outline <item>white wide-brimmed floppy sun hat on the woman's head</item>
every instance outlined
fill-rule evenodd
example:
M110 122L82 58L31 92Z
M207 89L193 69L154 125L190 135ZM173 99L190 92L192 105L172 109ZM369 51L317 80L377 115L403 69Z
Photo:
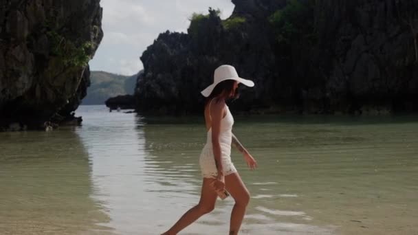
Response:
M240 78L233 66L221 65L214 70L213 83L201 91L201 94L205 97L210 96L210 93L212 93L214 87L216 87L219 82L224 80L236 80L237 82L242 83L247 87L254 87L254 82L252 80Z

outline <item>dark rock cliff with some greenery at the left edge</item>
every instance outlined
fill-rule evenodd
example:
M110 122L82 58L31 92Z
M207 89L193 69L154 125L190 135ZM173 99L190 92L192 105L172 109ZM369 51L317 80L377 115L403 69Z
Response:
M86 95L87 63L103 36L99 2L0 3L1 128L43 128L71 116Z

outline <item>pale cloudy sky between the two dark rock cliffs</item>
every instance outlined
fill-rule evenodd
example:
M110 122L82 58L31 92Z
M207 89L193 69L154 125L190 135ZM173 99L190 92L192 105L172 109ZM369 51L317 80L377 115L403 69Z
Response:
M101 0L104 37L90 69L133 75L143 68L140 56L158 34L186 32L193 12L219 8L221 18L232 14L230 0Z

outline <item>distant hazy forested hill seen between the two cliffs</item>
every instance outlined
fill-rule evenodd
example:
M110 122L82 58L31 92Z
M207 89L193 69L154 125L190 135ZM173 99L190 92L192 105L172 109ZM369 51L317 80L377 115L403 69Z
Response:
M82 104L104 104L108 98L133 94L136 78L137 74L122 76L105 71L91 71L91 85L87 89L87 96Z

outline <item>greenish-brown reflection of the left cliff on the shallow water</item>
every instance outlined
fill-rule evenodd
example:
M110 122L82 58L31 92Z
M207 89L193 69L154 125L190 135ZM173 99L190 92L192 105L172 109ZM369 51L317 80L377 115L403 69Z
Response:
M74 130L0 133L0 234L108 234Z

